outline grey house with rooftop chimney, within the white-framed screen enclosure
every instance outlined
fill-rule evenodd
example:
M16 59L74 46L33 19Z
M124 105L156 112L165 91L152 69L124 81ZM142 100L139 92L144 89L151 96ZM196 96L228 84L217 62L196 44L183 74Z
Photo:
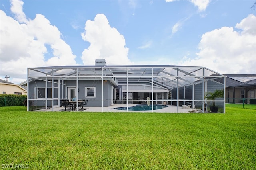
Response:
M61 100L77 98L88 99L87 106L102 107L103 111L113 104L145 103L147 97L152 104L191 103L204 108L204 89L224 89L224 79L224 75L205 67L108 66L104 59L96 59L94 66L28 68L28 81L22 85L27 86L33 106L53 111ZM222 107L224 104L224 99L220 100Z

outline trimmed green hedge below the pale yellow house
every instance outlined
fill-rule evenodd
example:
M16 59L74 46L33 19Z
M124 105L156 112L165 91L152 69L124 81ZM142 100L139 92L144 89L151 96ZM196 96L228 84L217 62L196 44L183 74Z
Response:
M27 95L0 94L0 106L22 106Z

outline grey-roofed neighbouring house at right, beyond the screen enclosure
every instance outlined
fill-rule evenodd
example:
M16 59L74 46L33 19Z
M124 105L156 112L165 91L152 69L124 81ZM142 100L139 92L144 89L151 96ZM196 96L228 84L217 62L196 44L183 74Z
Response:
M226 103L256 104L256 74L226 74Z

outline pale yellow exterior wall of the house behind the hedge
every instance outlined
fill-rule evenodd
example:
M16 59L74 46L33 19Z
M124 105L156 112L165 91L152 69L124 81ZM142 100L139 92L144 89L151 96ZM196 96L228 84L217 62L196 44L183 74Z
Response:
M20 88L17 84L0 84L0 92L1 94L15 94L21 93L22 95L26 95L26 90Z

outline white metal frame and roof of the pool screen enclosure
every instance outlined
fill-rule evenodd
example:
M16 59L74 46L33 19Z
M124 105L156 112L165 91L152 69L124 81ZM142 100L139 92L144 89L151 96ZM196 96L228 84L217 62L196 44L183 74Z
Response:
M163 89L169 90L172 92L173 89L177 89L177 98L176 99L168 99L167 102L176 102L177 104L177 113L179 113L179 102L188 101L184 99L180 99L179 96L179 88L193 85L193 99L189 100L192 104L194 102L202 102L202 108L205 107L206 102L212 102L209 100L205 100L204 96L207 90L205 90L205 83L207 81L215 81L217 79L222 79L223 90L225 91L225 76L219 74L213 70L210 70L205 67L198 66L173 66L173 65L135 65L135 66L51 66L51 67L37 67L37 68L28 68L27 69L27 89L28 89L28 98L27 98L27 111L29 111L29 103L30 100L45 100L46 108L47 101L51 101L51 111L54 109L54 101L58 101L58 106L60 106L60 93L63 94L64 90L64 81L65 80L76 80L76 94L78 94L78 83L79 80L101 80L102 82L102 112L104 112L104 101L111 99L104 99L104 80L110 81L114 86L118 85L126 85L128 94L128 85L131 83L150 83L152 85L151 92L151 100L152 104L156 102L153 99L153 87L158 86ZM56 88L56 84L58 84L58 98L54 98L54 90L52 90L51 98L45 99L30 99L29 96L32 95L29 88L29 82L33 80L42 80L45 81L46 87L47 82L51 83L49 88ZM54 82L55 81L55 82ZM58 82L56 82L58 81ZM204 82L204 83L202 83ZM195 100L194 99L194 85L202 83L202 99ZM54 85L55 84L55 85ZM62 92L60 92L60 86L62 86ZM46 90L47 91L47 90ZM225 92L224 92L225 95ZM47 92L46 92L47 96ZM62 96L63 97L63 96ZM223 100L218 100L218 102L223 102L223 113L225 113L225 96ZM88 101L94 99L88 99ZM128 99L126 99L128 101ZM78 100L77 100L78 102ZM128 107L128 102L126 102ZM77 103L78 106L78 103ZM193 106L193 105L192 105ZM128 111L128 110L127 110ZM153 107L151 112L153 112ZM204 113L204 109L202 109Z

